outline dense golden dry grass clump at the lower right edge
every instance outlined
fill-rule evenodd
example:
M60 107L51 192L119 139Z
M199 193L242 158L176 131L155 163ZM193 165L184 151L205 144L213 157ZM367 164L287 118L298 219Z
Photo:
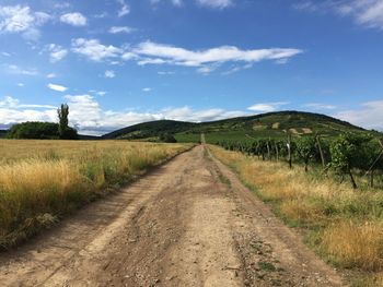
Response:
M344 267L383 268L383 226L379 223L334 224L324 230L321 247Z

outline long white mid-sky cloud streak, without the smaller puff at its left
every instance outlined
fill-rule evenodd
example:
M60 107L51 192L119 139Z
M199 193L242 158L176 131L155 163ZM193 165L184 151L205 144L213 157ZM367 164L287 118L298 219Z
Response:
M139 64L176 64L184 67L196 67L201 72L214 70L217 65L225 62L254 63L264 60L289 59L303 52L294 48L270 48L241 50L233 46L222 46L207 50L187 50L184 48L144 41L132 49L132 52L140 56ZM216 65L212 65L216 64Z

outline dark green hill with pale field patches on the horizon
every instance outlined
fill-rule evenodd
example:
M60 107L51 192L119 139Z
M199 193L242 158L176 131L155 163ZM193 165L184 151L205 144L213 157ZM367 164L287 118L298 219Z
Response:
M334 136L346 131L364 132L365 130L321 113L278 111L201 123L173 120L151 121L124 128L102 137L155 140L162 133L171 133L179 142L196 142L199 140L199 134L205 133L207 141L214 143L230 139L283 137L287 131L293 136L313 133Z

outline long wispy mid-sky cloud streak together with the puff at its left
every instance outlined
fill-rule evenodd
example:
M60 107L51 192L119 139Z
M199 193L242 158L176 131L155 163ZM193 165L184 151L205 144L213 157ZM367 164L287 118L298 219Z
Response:
M185 48L143 41L136 46L106 46L98 39L77 38L72 40L73 52L83 55L93 61L105 61L119 58L124 61L135 60L139 65L170 64L197 68L200 73L210 73L228 62L244 62L243 69L260 61L288 60L303 52L297 48L269 48L242 50L234 46L221 46L205 50L188 50ZM239 69L241 70L241 69Z

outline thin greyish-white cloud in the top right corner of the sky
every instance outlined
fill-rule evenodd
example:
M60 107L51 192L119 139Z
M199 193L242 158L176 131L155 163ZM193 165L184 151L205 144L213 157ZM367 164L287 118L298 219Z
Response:
M383 1L382 0L304 0L293 5L298 10L310 12L335 12L341 16L351 16L359 25L383 29Z

